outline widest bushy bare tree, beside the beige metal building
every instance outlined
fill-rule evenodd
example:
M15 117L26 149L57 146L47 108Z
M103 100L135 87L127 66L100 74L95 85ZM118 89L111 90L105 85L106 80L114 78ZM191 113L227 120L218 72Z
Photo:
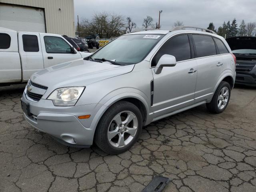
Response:
M120 36L125 32L124 17L107 12L94 14L92 20L82 19L80 30L87 35L98 34L100 38Z

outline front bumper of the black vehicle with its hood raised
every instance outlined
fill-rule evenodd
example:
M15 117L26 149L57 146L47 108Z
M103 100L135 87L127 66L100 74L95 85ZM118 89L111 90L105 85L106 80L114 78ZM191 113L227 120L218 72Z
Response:
M248 72L236 71L236 84L256 86L256 68Z

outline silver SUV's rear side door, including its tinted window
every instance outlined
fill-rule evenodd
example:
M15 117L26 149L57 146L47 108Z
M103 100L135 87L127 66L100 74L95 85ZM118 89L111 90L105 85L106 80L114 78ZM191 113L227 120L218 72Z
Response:
M193 34L192 37L198 66L195 102L200 102L212 98L223 71L223 60L222 56L217 55L212 36Z

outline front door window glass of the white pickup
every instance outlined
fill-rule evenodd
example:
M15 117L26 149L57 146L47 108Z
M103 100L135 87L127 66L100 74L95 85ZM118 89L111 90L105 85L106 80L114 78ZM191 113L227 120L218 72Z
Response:
M47 53L71 53L70 45L60 37L44 36Z

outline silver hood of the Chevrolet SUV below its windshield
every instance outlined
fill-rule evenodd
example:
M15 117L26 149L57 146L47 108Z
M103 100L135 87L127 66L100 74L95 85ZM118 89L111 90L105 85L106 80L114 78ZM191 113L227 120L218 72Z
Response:
M86 86L94 82L131 72L134 65L118 66L109 62L74 60L45 68L34 73L32 82L60 88L66 86Z

